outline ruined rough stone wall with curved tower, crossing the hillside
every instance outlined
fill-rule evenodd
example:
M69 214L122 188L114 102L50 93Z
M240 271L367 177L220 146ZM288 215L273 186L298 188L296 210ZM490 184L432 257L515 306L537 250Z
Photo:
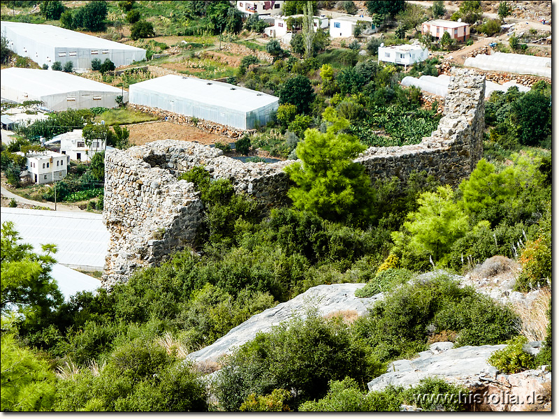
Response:
M406 182L414 170L426 170L445 184L457 185L483 154L484 89L483 75L456 70L444 117L430 137L418 145L371 147L356 161L373 181L397 176ZM159 263L196 241L203 203L193 184L177 180L180 173L204 166L215 179L231 179L236 191L254 196L267 210L289 203L291 183L284 168L291 163L242 163L219 149L175 140L108 153L103 219L110 242L103 286L126 282L134 270Z

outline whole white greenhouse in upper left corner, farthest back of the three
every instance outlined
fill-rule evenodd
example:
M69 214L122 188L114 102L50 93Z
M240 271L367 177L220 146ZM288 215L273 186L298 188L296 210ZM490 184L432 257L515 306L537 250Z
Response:
M145 59L145 50L50 24L1 22L1 34L8 47L22 57L29 57L39 66L71 61L74 68L88 70L92 59L110 59L115 66L126 66Z

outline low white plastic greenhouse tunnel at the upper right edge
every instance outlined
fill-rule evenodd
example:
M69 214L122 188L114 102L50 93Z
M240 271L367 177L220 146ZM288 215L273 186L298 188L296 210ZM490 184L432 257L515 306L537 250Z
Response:
M479 54L475 57L468 57L464 65L486 71L535 74L551 78L551 58L546 57L495 52L491 55Z

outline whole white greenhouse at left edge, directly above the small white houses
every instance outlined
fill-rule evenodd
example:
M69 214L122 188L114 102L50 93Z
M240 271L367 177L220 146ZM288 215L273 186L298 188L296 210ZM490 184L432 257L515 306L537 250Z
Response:
M0 72L1 97L17 103L41 101L51 111L115 108L122 90L79 75L36 68L5 68ZM128 92L124 91L124 101Z

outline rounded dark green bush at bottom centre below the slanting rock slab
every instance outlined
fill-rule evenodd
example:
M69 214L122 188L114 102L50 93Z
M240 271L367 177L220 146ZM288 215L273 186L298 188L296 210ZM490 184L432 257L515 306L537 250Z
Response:
M309 313L305 321L282 324L241 346L231 355L216 383L217 397L226 411L237 411L251 395L267 395L289 388L291 409L324 397L329 380L346 376L358 383L383 372L340 318L325 320Z

